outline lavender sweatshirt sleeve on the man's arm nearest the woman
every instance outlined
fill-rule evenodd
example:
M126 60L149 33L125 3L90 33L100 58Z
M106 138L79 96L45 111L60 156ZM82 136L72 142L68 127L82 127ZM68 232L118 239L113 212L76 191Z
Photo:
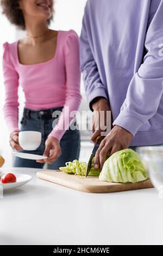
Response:
M96 97L104 97L106 99L108 99L108 97L91 51L89 36L87 33L87 28L89 28L89 26L89 14L87 14L86 5L83 17L82 33L80 35L80 68L83 73L86 97L90 104Z

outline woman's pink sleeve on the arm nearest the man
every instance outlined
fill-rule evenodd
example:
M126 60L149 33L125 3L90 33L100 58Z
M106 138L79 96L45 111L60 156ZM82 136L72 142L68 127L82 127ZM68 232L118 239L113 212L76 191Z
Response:
M60 140L70 126L74 117L72 111L77 111L82 99L80 95L80 60L79 60L79 38L76 32L69 31L64 46L65 71L66 71L66 96L65 104L59 117L58 123L49 136ZM67 111L68 110L68 111Z

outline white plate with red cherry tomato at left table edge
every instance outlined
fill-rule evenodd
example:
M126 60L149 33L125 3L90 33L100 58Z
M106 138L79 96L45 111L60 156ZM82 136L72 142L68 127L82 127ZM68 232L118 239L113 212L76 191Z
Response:
M3 175L7 173L8 172L0 172L1 178L3 177ZM9 190L9 189L21 187L27 182L29 182L30 180L32 180L32 176L27 174L15 174L14 172L10 172L10 173L13 173L16 176L16 182L13 182L13 183L0 182L0 186L3 187L3 190Z

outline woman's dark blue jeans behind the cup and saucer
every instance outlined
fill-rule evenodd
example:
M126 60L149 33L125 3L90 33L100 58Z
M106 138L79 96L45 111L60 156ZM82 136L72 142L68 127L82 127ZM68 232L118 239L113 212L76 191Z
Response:
M24 109L23 117L21 120L21 131L23 130L34 130L41 132L42 140L41 145L35 151L21 151L24 153L40 154L42 155L45 150L45 141L47 136L52 131L52 123L54 118L52 118L52 113L55 110L62 110L62 107L50 109L50 110L40 110L33 111L29 109ZM76 121L74 121L76 122ZM53 163L48 164L48 169L58 170L59 167L65 166L66 162L72 161L79 158L80 152L80 133L79 130L66 130L64 136L60 140L61 156ZM29 167L29 168L43 168L42 163L37 163L35 160L15 158L14 167Z

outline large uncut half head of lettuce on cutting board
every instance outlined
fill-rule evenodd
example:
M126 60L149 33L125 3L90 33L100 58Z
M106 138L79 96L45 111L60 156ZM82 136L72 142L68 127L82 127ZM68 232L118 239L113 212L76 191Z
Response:
M139 155L131 150L121 150L109 157L104 165L99 180L108 182L135 183L147 180L148 175Z

